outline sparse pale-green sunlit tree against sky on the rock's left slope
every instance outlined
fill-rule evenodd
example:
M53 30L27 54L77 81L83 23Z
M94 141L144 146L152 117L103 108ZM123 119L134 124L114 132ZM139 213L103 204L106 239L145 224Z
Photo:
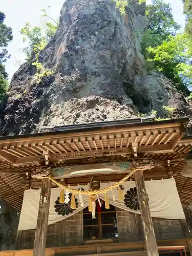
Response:
M50 6L47 9L42 9L42 17L47 17L48 20L51 19L52 22L46 22L46 29L35 26L32 27L29 22L26 22L25 26L20 30L20 34L24 35L23 42L28 42L28 46L22 50L23 53L27 55L27 59L30 59L44 49L48 44L49 40L54 36L58 23L48 14Z

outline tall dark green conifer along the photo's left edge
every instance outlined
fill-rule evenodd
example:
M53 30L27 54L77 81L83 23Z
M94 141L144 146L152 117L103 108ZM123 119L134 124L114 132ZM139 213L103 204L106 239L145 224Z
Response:
M5 18L5 13L0 12L0 102L5 97L8 89L8 74L4 62L10 57L7 46L13 39L12 29L4 24Z

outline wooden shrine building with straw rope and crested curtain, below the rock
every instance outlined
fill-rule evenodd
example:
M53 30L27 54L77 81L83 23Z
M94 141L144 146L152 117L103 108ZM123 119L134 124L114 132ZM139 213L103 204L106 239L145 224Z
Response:
M192 256L188 118L0 137L0 197L20 215L0 256Z

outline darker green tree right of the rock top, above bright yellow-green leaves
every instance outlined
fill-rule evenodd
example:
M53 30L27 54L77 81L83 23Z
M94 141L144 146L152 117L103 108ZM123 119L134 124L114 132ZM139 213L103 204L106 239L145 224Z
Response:
M162 41L169 40L170 35L176 35L180 26L174 21L170 4L163 0L153 0L151 5L146 6L148 25L142 39L142 52L147 54L148 47L156 47Z

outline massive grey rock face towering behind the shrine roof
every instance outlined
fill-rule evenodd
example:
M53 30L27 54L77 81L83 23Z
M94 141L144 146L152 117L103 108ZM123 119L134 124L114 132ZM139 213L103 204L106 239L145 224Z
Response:
M136 1L136 0L135 0ZM66 0L59 28L39 54L55 74L35 81L24 63L13 75L2 106L2 134L31 133L42 125L131 118L163 105L191 115L184 97L162 74L147 74L140 53L144 5L125 14L111 0Z

